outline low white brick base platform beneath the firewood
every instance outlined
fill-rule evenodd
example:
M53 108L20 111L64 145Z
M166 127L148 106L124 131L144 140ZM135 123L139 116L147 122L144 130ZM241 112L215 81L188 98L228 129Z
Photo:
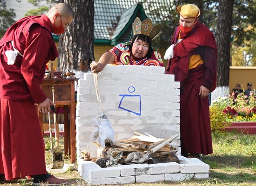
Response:
M90 185L130 184L139 182L183 181L209 178L209 165L196 158L178 156L176 162L132 164L101 168L92 161L78 159L79 171Z

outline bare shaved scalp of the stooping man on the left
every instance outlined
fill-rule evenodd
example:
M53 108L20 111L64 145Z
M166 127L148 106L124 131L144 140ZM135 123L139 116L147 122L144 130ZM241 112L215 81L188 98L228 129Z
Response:
M62 17L72 17L74 18L73 10L72 8L67 5L66 3L58 3L51 7L51 9L48 11L47 15L52 15L54 13L60 13Z

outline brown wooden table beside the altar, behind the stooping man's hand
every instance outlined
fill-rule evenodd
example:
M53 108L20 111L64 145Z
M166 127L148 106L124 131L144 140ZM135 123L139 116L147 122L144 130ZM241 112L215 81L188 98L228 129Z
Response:
M77 79L50 78L44 79L41 84L41 89L51 100L53 100L52 85L54 84L55 105L64 106L64 153L71 156L71 163L75 163L75 80ZM70 124L68 123L68 106L70 106ZM42 128L42 113L39 110L38 116Z

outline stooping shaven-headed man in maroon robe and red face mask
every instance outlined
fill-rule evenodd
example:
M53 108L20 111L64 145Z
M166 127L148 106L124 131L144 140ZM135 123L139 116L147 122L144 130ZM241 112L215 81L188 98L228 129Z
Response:
M61 34L73 20L65 3L46 15L29 16L11 26L0 40L0 174L13 180L34 177L34 185L65 184L47 174L44 141L34 107L46 113L53 102L40 83L49 60L58 57L52 32Z

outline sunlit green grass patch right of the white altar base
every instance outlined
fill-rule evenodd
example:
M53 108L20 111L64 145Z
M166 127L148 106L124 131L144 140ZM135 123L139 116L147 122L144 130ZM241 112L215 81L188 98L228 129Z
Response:
M214 133L212 138L214 154L202 158L210 166L204 184L256 186L256 135Z

